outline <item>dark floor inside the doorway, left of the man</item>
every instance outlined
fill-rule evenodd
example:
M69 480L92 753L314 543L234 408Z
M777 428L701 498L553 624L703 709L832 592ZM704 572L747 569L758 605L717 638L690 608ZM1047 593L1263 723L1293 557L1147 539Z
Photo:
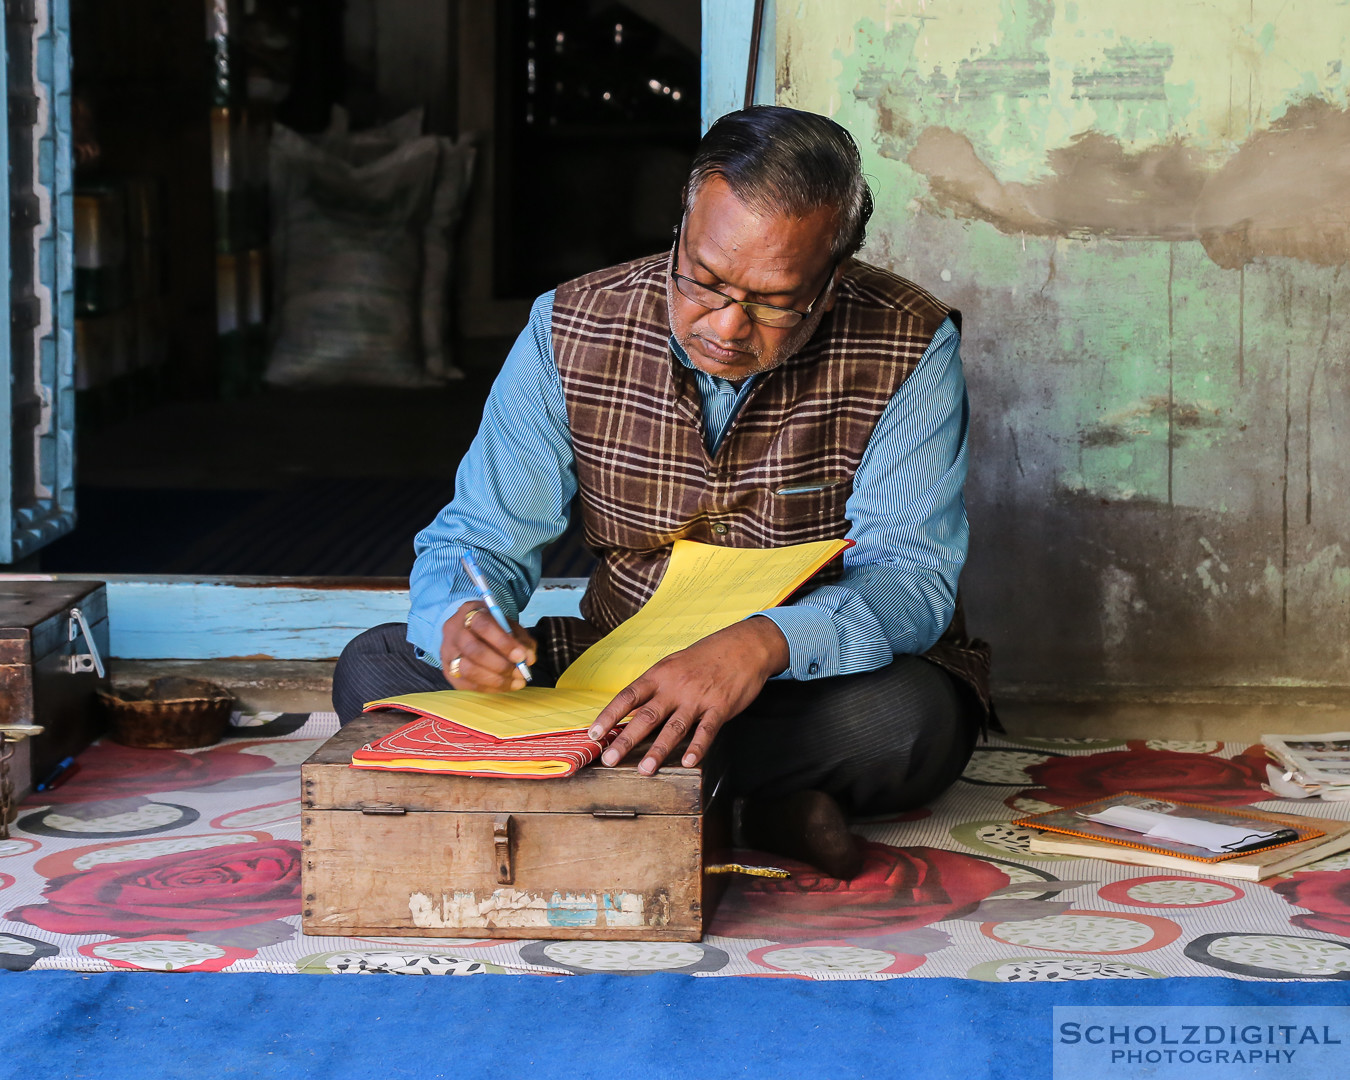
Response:
M31 568L406 575L508 347L462 344L468 375L436 387L266 387L92 416L77 431L78 522Z

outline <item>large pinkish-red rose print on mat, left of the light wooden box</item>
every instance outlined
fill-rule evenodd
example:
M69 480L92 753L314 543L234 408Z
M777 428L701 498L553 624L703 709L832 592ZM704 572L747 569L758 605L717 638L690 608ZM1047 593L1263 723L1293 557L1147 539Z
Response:
M7 918L54 934L144 937L250 926L300 913L300 845L231 844L53 878L46 903Z

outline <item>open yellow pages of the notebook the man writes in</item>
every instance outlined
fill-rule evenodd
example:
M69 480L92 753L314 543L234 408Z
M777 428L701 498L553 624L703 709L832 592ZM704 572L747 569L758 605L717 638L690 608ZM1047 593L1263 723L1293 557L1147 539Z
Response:
M366 709L439 717L500 740L585 732L614 694L657 660L782 603L850 544L822 540L786 548L722 548L676 540L652 598L586 649L562 674L556 688L526 686L509 694L433 690L381 698Z

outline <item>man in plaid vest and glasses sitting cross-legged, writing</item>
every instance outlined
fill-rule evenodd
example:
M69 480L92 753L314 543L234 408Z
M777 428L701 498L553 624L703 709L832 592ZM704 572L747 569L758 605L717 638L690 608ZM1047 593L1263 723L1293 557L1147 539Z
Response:
M842 572L666 657L599 714L648 736L653 774L725 742L737 841L838 878L848 815L925 803L987 716L988 649L956 585L968 528L960 316L856 261L871 215L832 120L760 107L703 138L670 251L540 297L506 359L454 501L417 537L408 625L343 652L343 722L381 697L549 684L637 612L676 539L776 547L848 537ZM582 618L508 634L460 570L470 551L514 617L578 500L599 559ZM479 617L482 613L482 617Z

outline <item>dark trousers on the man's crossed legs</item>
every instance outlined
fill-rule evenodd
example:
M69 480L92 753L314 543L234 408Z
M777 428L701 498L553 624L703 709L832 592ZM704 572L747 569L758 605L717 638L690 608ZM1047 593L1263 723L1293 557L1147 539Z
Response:
M367 701L447 688L446 676L417 659L405 633L401 622L386 622L343 649L333 672L342 724ZM536 686L555 678L536 666ZM861 675L770 682L718 740L729 755L734 794L780 798L817 790L865 815L937 798L961 775L977 732L973 699L946 671L918 656L896 656Z

